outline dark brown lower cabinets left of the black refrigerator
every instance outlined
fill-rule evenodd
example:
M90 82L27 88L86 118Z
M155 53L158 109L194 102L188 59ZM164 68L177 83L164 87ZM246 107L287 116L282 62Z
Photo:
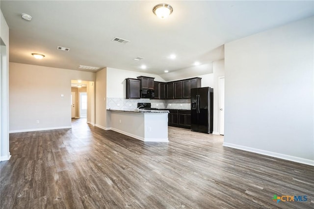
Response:
M168 126L191 128L191 110L168 109Z

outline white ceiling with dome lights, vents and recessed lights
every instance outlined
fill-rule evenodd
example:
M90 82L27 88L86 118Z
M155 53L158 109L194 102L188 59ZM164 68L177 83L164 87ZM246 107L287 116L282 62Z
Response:
M158 3L173 13L158 19ZM161 75L224 58L223 45L314 15L314 1L16 1L1 0L10 61L78 70L79 65ZM21 18L32 16L28 22ZM114 37L130 40L112 42ZM70 48L69 52L56 50ZM31 53L42 53L42 60ZM177 58L168 56L172 53ZM135 57L144 57L135 61ZM142 64L146 70L140 69Z

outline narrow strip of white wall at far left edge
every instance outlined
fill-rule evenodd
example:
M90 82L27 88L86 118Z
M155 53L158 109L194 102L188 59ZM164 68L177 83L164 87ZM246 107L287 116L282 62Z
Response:
M0 161L8 160L9 151L9 27L0 12Z

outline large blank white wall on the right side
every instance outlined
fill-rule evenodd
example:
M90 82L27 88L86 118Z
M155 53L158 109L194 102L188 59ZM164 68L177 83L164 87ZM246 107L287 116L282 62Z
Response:
M314 164L314 18L225 45L224 145Z

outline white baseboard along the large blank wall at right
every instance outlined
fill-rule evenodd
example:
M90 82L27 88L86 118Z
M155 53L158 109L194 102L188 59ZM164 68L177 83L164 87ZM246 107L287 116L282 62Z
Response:
M226 142L223 143L223 146L235 148L235 149L238 149L238 150L244 150L244 151L248 151L248 152L252 152L252 153L258 153L258 154L262 154L262 155L265 155L265 156L277 157L277 158L280 158L280 159L286 159L286 160L289 160L289 161L299 162L299 163L302 163L302 164L307 164L307 165L314 166L314 160L311 160L311 159L305 159L305 158L301 158L301 157L288 156L288 155L284 155L284 154L280 154L280 153L269 152L269 151L266 151L266 150L260 150L260 149L255 149L255 148L251 148L251 147L245 147L245 146L231 144L231 143L226 143Z

